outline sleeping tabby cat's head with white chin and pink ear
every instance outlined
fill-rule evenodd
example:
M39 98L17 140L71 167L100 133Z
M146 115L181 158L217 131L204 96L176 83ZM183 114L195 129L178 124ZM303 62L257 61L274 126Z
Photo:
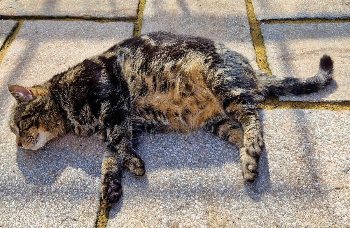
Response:
M19 147L37 150L69 129L63 111L44 86L9 85L8 91L17 101L13 106L10 129L16 135Z

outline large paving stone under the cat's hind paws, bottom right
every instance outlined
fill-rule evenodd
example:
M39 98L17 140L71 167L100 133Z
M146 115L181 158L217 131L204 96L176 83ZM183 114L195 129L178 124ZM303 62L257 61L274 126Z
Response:
M107 227L349 227L350 112L259 115L266 150L253 184L236 147L207 131L144 135L146 176L124 172Z

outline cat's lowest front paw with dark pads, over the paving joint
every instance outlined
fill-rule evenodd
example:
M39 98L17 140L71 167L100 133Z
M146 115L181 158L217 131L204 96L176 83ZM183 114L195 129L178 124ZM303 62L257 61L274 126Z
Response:
M121 183L116 179L102 181L102 199L106 204L117 202L121 196Z

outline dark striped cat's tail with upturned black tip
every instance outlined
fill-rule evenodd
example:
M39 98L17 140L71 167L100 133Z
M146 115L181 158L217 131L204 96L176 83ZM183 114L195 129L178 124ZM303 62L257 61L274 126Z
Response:
M333 71L333 60L328 55L323 55L318 72L311 78L285 78L259 72L258 93L281 96L317 92L330 84Z

